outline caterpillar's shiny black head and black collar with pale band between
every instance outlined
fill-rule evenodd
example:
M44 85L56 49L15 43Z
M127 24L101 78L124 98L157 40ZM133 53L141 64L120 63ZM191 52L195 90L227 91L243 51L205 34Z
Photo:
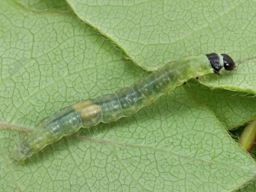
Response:
M234 70L236 68L234 60L227 54L210 53L206 54L211 63L211 67L215 74L219 75L219 71L224 67L225 70Z

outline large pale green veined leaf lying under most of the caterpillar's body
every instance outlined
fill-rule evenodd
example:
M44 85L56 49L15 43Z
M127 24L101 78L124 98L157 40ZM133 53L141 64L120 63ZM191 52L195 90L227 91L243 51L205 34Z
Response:
M146 74L70 14L3 1L0 29L2 191L230 191L255 177L251 156L182 87L133 117L84 129L18 165L10 152L21 127Z

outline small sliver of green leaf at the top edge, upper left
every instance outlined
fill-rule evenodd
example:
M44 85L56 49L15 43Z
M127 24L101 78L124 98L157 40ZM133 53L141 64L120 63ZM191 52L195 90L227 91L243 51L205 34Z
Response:
M34 11L60 11L60 12L72 12L65 0L15 0L27 9Z

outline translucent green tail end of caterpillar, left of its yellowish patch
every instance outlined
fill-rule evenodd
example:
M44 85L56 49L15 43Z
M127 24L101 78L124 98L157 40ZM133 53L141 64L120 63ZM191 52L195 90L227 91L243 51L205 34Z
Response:
M23 164L45 146L51 145L82 126L80 116L72 107L66 107L44 118L34 129L14 147L12 157Z

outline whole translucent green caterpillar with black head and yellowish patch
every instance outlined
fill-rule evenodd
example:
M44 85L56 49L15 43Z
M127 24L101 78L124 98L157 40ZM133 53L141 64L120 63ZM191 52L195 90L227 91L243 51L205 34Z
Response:
M190 56L167 63L114 94L75 103L46 117L14 147L13 157L23 163L45 146L81 127L89 128L100 122L110 123L131 116L142 107L150 105L161 94L182 85L190 78L219 74L223 67L225 70L234 70L235 63L227 54L218 53Z

